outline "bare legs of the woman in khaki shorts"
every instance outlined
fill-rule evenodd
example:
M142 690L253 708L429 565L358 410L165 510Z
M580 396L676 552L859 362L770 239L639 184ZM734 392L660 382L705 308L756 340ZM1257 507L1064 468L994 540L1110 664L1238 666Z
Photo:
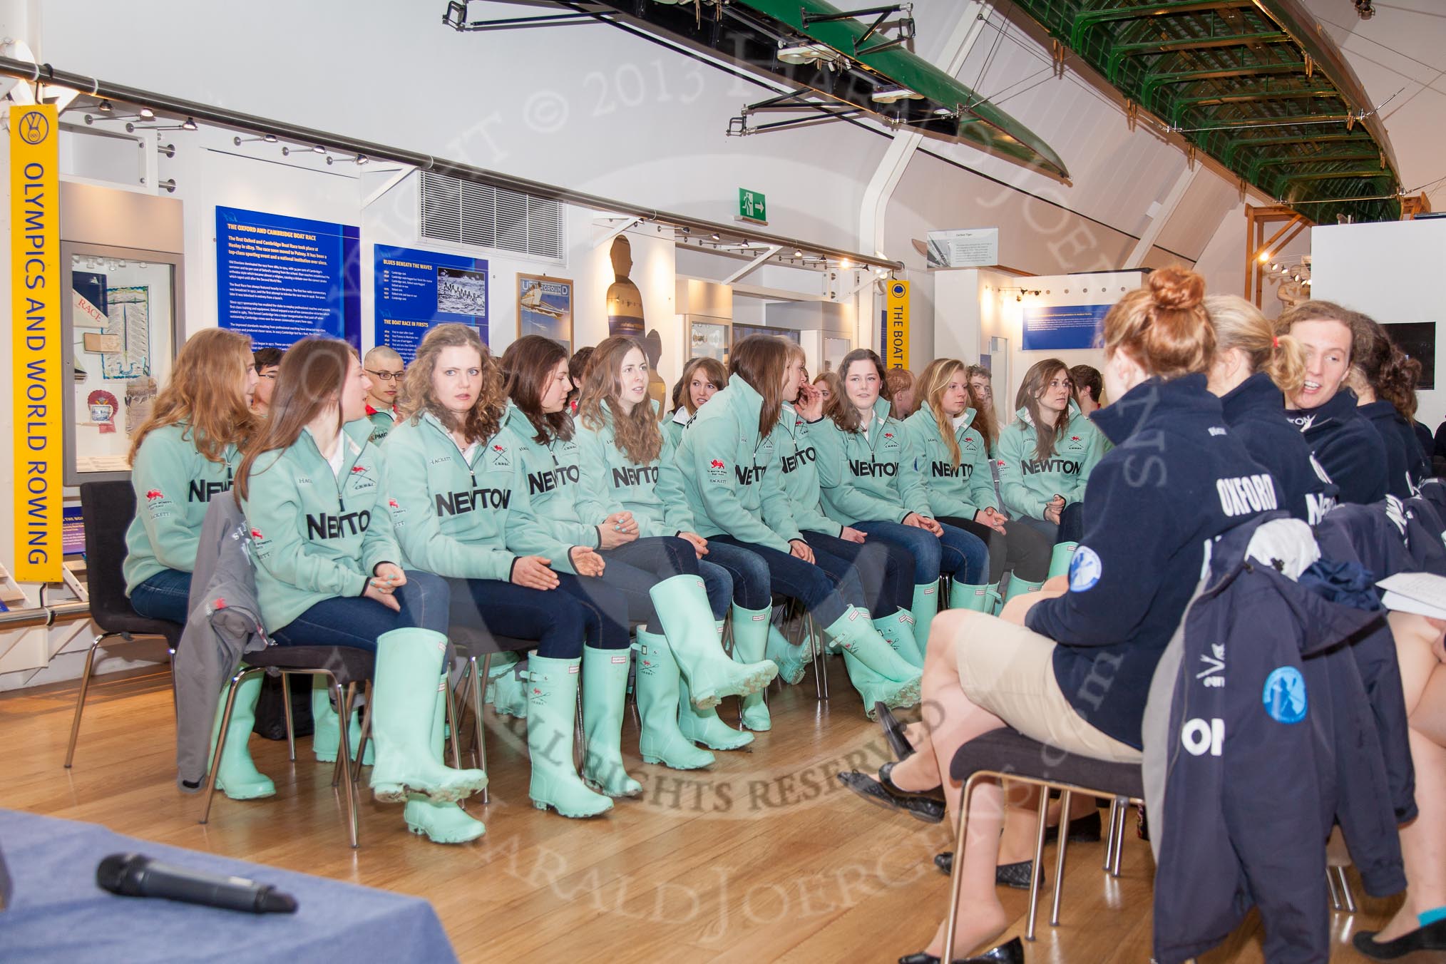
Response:
M985 629L979 620L988 619L991 617L982 613L960 610L949 610L934 619L923 684L928 740L915 744L918 752L894 767L895 782L901 788L938 786L940 773L949 773L949 765L959 747L1005 726L999 717L969 701L959 685L959 669L954 663L956 640ZM944 780L950 821L959 819L963 789L963 783ZM1004 905L995 895L995 863L999 857L999 830L1004 825L1002 796L996 785L983 783L975 788L970 799L969 838L964 841L963 863L956 863L956 873L963 874L962 912L956 929L956 942L960 948L972 948L998 937L1008 925ZM954 860L959 861L960 856L954 854ZM940 924L928 952L940 955L943 951L944 924Z

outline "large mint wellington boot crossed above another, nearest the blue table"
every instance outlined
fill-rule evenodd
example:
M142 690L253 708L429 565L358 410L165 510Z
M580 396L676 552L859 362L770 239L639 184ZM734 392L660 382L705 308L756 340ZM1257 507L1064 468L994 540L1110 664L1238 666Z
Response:
M487 785L482 770L454 770L432 757L432 718L447 698L445 656L447 637L429 629L393 629L376 639L372 791L385 804L409 793L455 804Z

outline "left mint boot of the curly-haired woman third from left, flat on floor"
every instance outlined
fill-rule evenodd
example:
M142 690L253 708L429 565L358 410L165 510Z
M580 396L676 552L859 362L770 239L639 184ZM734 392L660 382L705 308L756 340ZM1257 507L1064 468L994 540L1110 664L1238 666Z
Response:
M587 789L573 766L581 662L545 656L528 659L532 702L528 707L528 756L532 757L528 796L538 809L551 806L562 817L597 817L613 808L610 799Z

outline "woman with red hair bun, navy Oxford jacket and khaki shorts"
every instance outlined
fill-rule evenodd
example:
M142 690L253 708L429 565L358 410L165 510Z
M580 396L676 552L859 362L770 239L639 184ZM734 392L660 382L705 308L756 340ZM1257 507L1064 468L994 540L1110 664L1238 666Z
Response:
M933 713L911 730L914 752L879 770L886 789L941 789L950 821L957 821L963 786L946 779L954 753L1002 727L1067 753L1141 760L1150 681L1194 594L1206 543L1278 506L1271 475L1233 434L1219 431L1220 400L1206 389L1215 331L1203 295L1205 280L1194 272L1161 269L1111 308L1103 373L1112 403L1095 421L1115 448L1090 475L1089 525L1069 591L1022 595L999 617L940 613L924 666L923 702ZM1142 478L1145 460L1157 470ZM1216 497L1245 484L1257 503ZM1100 688L1090 676L1103 665L1113 675ZM980 783L970 796L969 838L954 854L967 912L954 925L957 950L946 948L940 925L925 950L936 960L966 957L1012 919L995 892L996 864L1008 856L1028 858L1035 818L1015 819L1024 811L1011 809L1001 827L1002 804L995 783ZM991 954L973 960L1018 961L1024 948L1015 938Z

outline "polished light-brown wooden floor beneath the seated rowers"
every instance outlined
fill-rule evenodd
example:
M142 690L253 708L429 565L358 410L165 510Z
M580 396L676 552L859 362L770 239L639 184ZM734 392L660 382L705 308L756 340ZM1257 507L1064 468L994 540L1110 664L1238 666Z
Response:
M23 691L0 697L0 806L418 895L437 908L464 961L892 961L923 948L944 913L947 880L931 857L946 848L947 831L840 788L837 770L873 769L886 757L842 668L830 679L827 704L810 684L775 691L774 731L752 752L720 753L711 770L643 766L629 753L645 796L591 821L532 808L522 741L489 714L492 802L471 806L487 834L460 847L431 844L406 832L401 806L367 799L354 851L331 767L312 762L309 740L292 765L285 743L253 737L278 795L218 795L201 827L200 801L174 783L165 676L91 688L72 770L61 763L74 688ZM638 746L630 718L623 746ZM1027 960L1150 960L1148 844L1128 832L1119 879L1100 870L1102 860L1100 844L1070 845L1061 924L1048 926L1045 906ZM1045 861L1053 873L1053 845ZM1022 934L1027 895L1001 893L1017 915L1009 934ZM1394 911L1358 900L1358 913L1333 918L1333 961L1362 960L1351 932L1375 929ZM1261 960L1252 924L1203 958Z

